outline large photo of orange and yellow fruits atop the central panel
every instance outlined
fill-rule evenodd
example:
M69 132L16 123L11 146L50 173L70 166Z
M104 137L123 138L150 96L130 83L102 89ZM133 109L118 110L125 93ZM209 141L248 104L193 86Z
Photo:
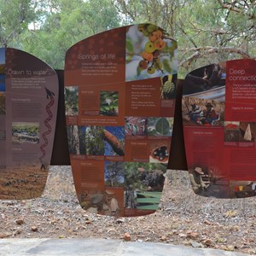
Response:
M177 73L177 42L160 26L138 24L126 32L125 80Z

